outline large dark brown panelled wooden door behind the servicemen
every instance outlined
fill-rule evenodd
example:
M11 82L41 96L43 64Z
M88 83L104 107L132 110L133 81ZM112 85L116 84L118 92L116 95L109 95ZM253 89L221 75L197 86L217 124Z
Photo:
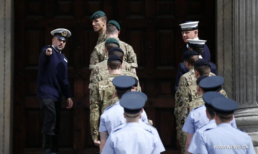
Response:
M38 56L51 45L50 31L72 33L64 50L74 106L61 112L62 153L95 153L89 126L89 59L98 34L90 16L103 10L108 20L120 23L119 38L137 54L137 75L148 95L145 110L159 131L165 153L179 153L174 119L174 82L185 44L180 23L200 21L199 37L206 39L215 56L214 1L15 1L15 119L14 153L40 153L42 120L36 96ZM211 30L212 29L212 30Z

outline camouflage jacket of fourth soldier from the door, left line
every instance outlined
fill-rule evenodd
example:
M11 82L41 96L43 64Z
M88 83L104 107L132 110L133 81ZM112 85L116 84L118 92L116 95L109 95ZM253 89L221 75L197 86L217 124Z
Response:
M134 78L136 78L138 80L138 83L139 83L139 79L138 79L137 75L132 73L132 72L130 72L130 71L121 69L121 75L127 75L127 76L134 77ZM101 72L101 73L97 74L97 76L96 76L96 78L94 80L94 83L99 82L99 81L107 78L108 76L109 76L108 70L104 71L104 72ZM140 84L138 84L137 91L140 91L140 92L142 91L142 89L140 87Z

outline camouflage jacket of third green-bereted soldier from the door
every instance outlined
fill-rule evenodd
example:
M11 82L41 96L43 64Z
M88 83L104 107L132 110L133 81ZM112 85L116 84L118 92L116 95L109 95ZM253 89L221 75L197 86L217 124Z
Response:
M129 63L127 63L126 61L124 61L122 63L122 69L134 73L133 67ZM100 62L100 63L97 63L97 65L95 65L93 67L93 69L91 69L89 89L91 89L97 74L99 74L101 72L104 72L106 70L107 70L107 59Z

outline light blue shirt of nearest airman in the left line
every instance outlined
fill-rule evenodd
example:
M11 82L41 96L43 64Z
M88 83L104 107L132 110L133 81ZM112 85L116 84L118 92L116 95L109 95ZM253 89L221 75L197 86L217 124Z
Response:
M127 123L108 136L102 154L157 154L157 145L157 138L149 130L139 123Z

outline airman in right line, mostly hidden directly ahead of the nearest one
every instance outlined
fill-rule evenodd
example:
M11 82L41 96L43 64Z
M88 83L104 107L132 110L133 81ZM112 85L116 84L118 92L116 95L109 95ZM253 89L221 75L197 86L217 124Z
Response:
M191 143L188 147L188 152L194 153L194 154L196 153L196 148L197 148L196 144L200 142L200 135L203 133L203 131L205 131L206 129L212 129L217 127L217 124L215 123L215 119L214 119L214 116L215 116L214 109L211 106L211 100L218 97L225 97L225 96L215 91L209 91L202 96L203 101L205 102L204 105L206 107L206 115L210 121L207 124L203 125L202 127L198 128L196 132L193 134Z

